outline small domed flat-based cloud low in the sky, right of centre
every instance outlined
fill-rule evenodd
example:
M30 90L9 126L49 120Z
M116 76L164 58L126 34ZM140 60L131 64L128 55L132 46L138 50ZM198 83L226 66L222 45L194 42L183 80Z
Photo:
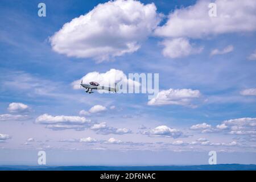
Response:
M158 126L150 131L143 131L142 134L146 134L150 137L172 137L178 138L183 134L180 130L170 128L168 126Z

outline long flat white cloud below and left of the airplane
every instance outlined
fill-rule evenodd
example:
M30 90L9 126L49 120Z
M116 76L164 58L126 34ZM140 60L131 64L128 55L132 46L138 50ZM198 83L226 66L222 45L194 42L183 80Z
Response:
M48 129L52 130L84 130L86 126L90 125L90 119L78 116L43 114L36 118L35 123L46 125Z

